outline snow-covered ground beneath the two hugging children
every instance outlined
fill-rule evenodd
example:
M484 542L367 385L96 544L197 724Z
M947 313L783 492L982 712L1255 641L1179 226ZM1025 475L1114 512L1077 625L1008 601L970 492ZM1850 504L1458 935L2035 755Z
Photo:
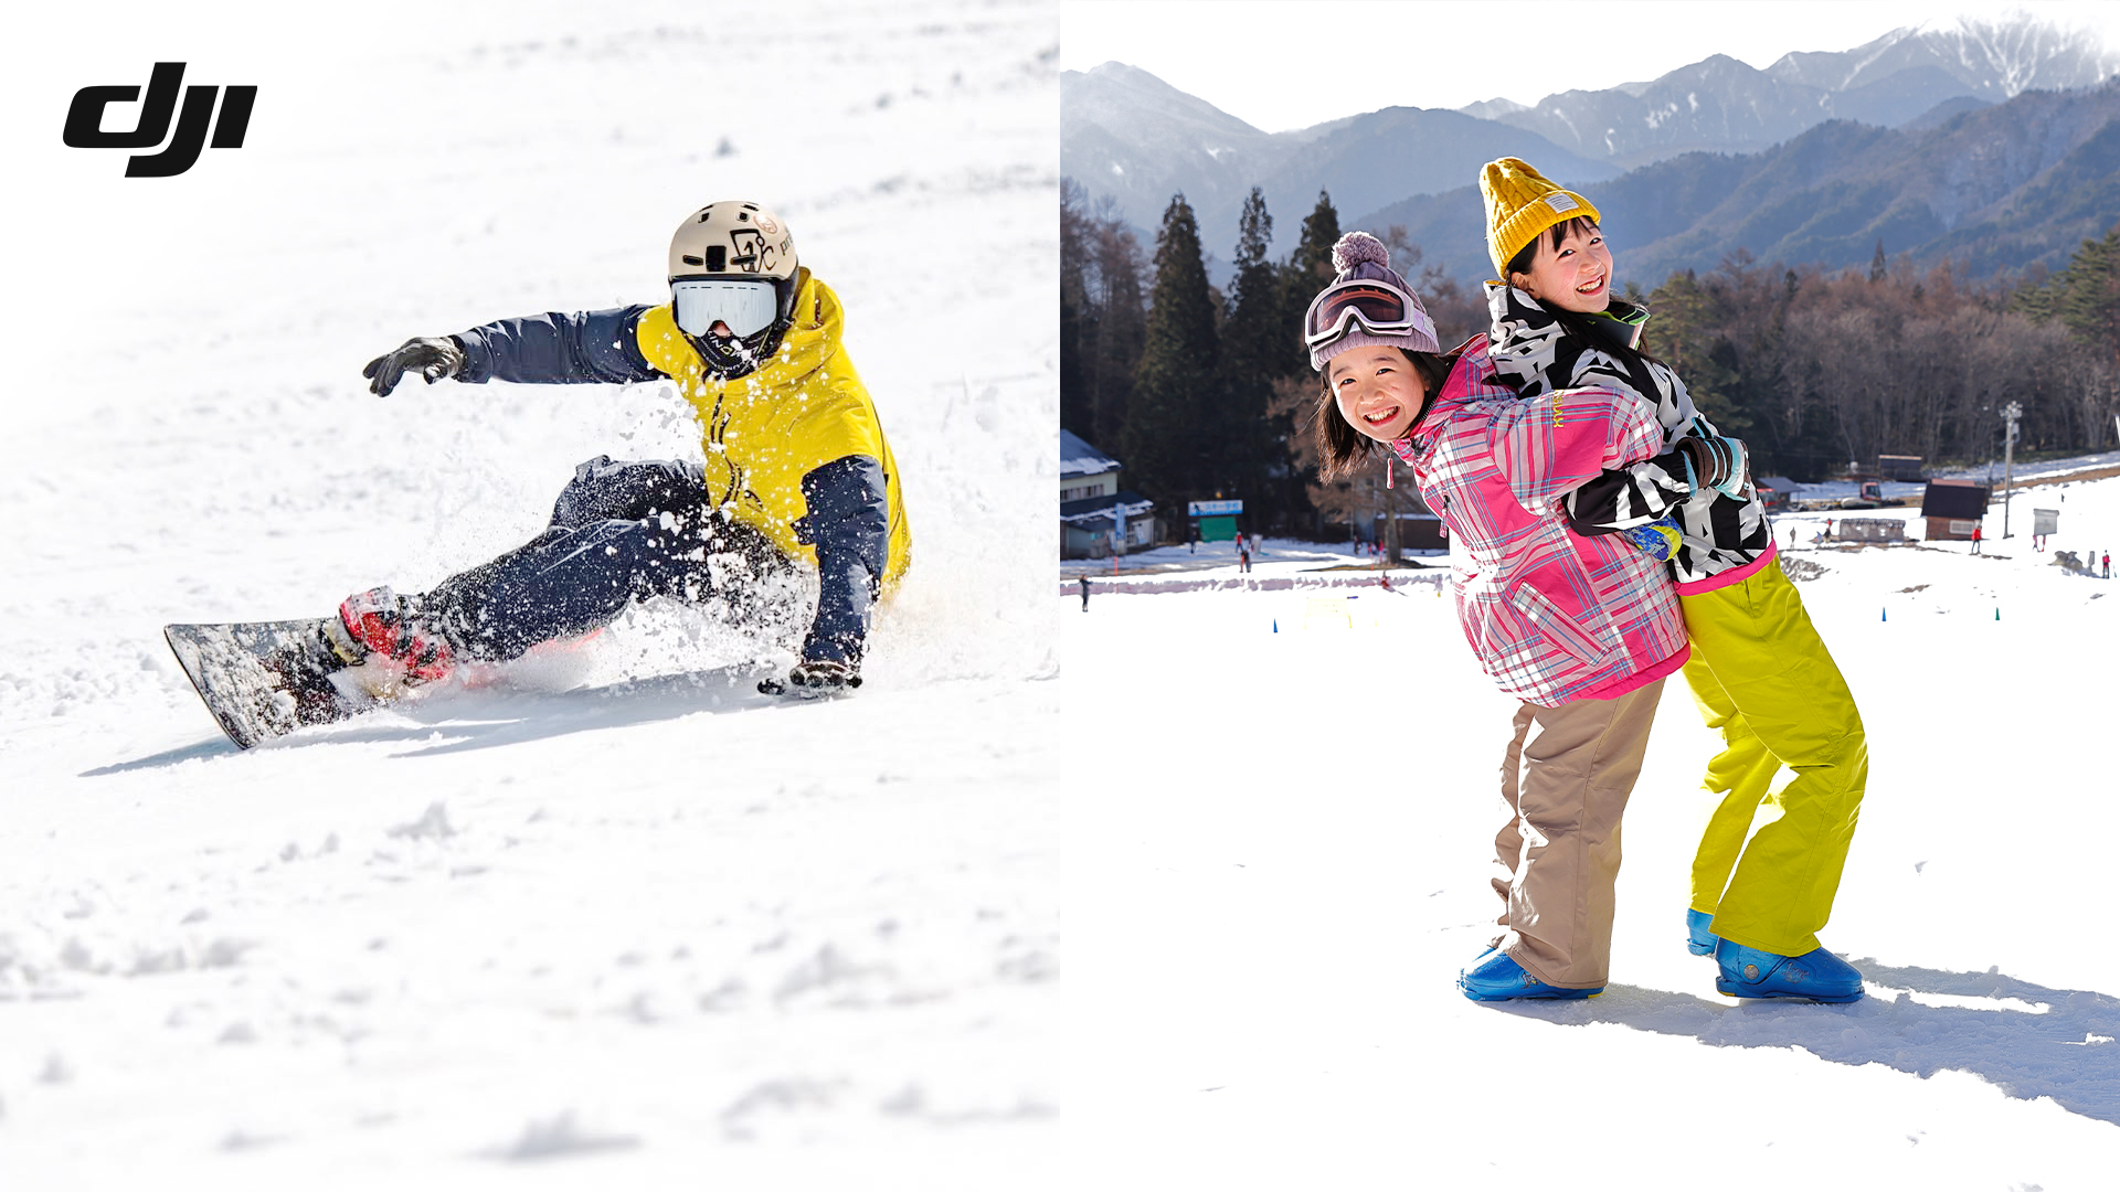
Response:
M2120 479L2063 509L2056 549L2120 543ZM1068 1128L1138 1188L2112 1188L2120 581L1965 549L1794 554L1872 751L1821 933L1870 997L1832 1007L1724 999L1683 946L1719 738L1681 681L1611 986L1478 1005L1452 982L1497 912L1514 704L1435 571L1062 594Z

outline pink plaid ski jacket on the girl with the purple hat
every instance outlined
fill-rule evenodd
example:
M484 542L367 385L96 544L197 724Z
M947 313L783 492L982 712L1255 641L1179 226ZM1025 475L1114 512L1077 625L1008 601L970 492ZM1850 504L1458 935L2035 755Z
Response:
M1664 428L1635 397L1516 397L1497 382L1484 335L1461 348L1435 403L1393 443L1450 526L1459 624L1503 694L1545 706L1611 700L1685 664L1664 564L1622 534L1575 534L1560 505L1662 445Z

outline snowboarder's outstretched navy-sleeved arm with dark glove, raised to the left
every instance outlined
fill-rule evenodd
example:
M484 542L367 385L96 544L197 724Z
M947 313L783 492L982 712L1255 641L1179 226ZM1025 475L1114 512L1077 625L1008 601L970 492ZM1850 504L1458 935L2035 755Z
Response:
M625 384L664 373L640 354L634 325L647 305L547 312L502 318L443 339L407 339L363 369L369 390L386 397L407 371L428 384L456 378L464 384L490 380L528 384Z

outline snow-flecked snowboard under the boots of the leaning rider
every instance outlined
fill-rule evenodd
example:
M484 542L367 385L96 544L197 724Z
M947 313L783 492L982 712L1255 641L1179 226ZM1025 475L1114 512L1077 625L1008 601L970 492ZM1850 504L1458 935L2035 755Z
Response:
M163 626L161 636L237 749L375 706L324 641L324 621Z

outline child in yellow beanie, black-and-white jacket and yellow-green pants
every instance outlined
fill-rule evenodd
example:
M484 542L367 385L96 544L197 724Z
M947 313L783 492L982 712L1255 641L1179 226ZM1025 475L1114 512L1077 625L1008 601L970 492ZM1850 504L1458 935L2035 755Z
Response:
M1724 751L1707 787L1724 795L1694 857L1688 946L1715 954L1734 997L1855 1001L1861 974L1819 946L1868 781L1861 715L1804 602L1774 562L1745 445L1694 409L1685 384L1641 350L1649 312L1611 297L1596 206L1516 157L1480 172L1488 352L1526 397L1582 386L1645 403L1664 428L1656 458L1605 471L1567 498L1582 534L1622 534L1666 560L1692 638L1685 681ZM1796 778L1779 793L1781 766ZM1747 831L1762 802L1781 814Z

